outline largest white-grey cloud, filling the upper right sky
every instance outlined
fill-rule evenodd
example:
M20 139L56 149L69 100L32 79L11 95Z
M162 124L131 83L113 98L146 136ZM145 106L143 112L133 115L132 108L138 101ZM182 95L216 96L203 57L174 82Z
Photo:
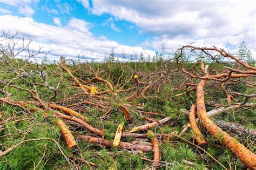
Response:
M140 33L153 38L143 45L173 52L178 45L238 47L242 40L255 54L255 1L125 1L92 0L85 5L91 13L110 13L117 19L132 22Z

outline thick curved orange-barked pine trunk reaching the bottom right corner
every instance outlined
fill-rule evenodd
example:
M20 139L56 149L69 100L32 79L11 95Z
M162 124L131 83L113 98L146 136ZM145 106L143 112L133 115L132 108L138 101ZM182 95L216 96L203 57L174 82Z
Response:
M222 144L231 149L244 164L251 169L256 169L256 155L248 150L244 145L240 144L237 140L232 138L229 134L221 130L213 121L208 117L205 101L204 101L204 86L206 79L200 81L197 86L197 113L199 119L203 122L206 130L218 139Z

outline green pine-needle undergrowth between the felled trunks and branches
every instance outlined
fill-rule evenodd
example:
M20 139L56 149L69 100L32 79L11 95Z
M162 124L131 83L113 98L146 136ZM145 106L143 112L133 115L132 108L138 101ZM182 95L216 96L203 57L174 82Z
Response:
M12 61L14 62L14 61ZM19 61L21 62L21 61ZM15 63L15 62L14 62ZM22 62L20 63L22 64ZM134 68L135 63L126 63L127 66ZM32 64L33 65L33 64ZM154 72L154 63L147 63L146 72ZM160 64L157 63L157 66ZM91 63L91 67L94 67L95 70L102 69L104 72L100 76L111 81L114 85L118 82L119 76L124 70L123 77L121 80L125 82L130 76L134 73L127 67L120 67L119 64L97 64ZM192 63L187 63L184 67L192 67ZM210 64L210 67L214 69L219 69L223 65L218 65L216 63ZM72 70L77 69L77 65L69 66ZM178 68L175 63L172 63L167 66L167 69ZM3 71L6 68L0 65L0 70ZM110 68L110 70L109 70ZM77 86L73 86L73 81L71 80L68 73L61 73L62 70L57 65L45 65L45 71L50 75L48 77L49 86L56 87L58 82L59 89L57 96L52 99L53 102L64 101L66 98L71 97L73 94L83 92ZM87 72L86 72L87 71ZM158 71L158 70L156 70ZM211 70L212 71L212 70ZM55 74L53 74L53 72ZM85 74L86 72L86 74ZM114 75L109 78L109 73ZM93 73L88 71L86 65L80 65L80 70L76 73L78 78L81 78L85 81L94 77ZM0 79L9 80L11 74L0 72ZM43 83L40 77L34 77L35 81ZM144 79L143 81L147 82L149 80ZM157 126L151 130L156 133L172 133L172 132L181 132L183 126L188 123L188 117L183 112L180 112L180 109L189 110L191 104L196 103L196 92L192 91L188 97L186 94L179 97L174 97L176 94L180 94L183 91L174 90L180 84L192 82L198 83L198 80L184 79L183 76L177 76L173 78L171 83L163 84L161 90L156 92L152 89L147 95L150 94L156 95L159 99L154 98L153 96L149 100L143 98L134 99L131 101L133 104L142 104L144 103L144 110L150 112L157 112L163 115L161 116L150 116L155 119L163 119L164 117L171 117L171 121L165 125ZM32 89L31 86L25 84L22 79L14 80L15 85L23 88ZM100 90L106 88L105 84L99 84L97 81L93 81ZM130 87L133 84L133 81L128 83L126 86ZM209 83L210 84L210 83ZM209 85L207 84L207 85ZM4 85L0 84L0 88L3 88ZM255 92L255 88L248 88L244 84L235 83L230 86L232 91L242 92L251 94ZM11 97L15 100L32 100L30 98L30 93L22 90L18 90L12 87L6 87ZM37 91L42 100L48 101L50 96L54 95L54 92L48 87L38 87ZM0 92L0 97L6 97L6 94ZM93 127L104 130L104 138L107 140L113 140L116 133L117 127L120 123L125 122L123 131L129 132L133 127L144 125L148 123L146 117L149 115L138 114L131 112L132 120L130 123L125 120L123 112L115 109L118 107L118 103L125 102L125 94L121 94L118 97L113 97L113 100L110 101L111 108L113 111L109 114L106 119L100 118L105 112L99 108L90 106L85 111L80 111L85 117L89 119L89 124ZM242 97L236 97L239 101L242 101ZM208 87L205 90L205 101L207 111L215 108L214 104L221 104L221 106L228 106L225 100L225 93L220 90L219 85L213 85ZM234 101L232 101L234 102ZM250 99L249 102L255 102L253 99ZM229 112L221 113L215 115L214 119L221 119L233 123L237 123L245 126L246 128L255 129L256 127L256 111L255 109L248 110L231 110ZM76 166L82 169L90 169L90 166L81 163L74 162L72 159L66 160L71 156L81 158L84 160L93 162L97 165L97 169L148 169L151 165L153 159L153 153L140 153L140 154L131 154L129 152L119 152L122 151L122 148L106 148L99 145L93 145L85 141L78 141L78 146L71 149L66 149L60 130L55 124L51 121L50 118L43 117L41 112L29 113L22 108L17 106L11 106L8 104L0 105L0 150L3 152L6 149L15 146L20 142L24 135L25 139L38 139L38 138L50 138L57 142L57 144L48 139L42 139L38 141L27 141L23 144L16 147L12 152L0 158L0 169L75 169ZM203 125L199 123L199 127L202 130L207 144L201 146L205 151L211 154L214 158L218 159L221 164L225 167L232 169L244 169L244 164L241 163L239 159L234 157L234 155L226 149L223 145L220 144L220 141L213 138L210 134L206 132ZM74 128L70 126L70 130L73 135L84 134L84 135L93 135L89 131L83 128ZM138 133L146 133L138 132ZM183 138L188 141L194 142L192 137L192 132L188 131ZM232 134L233 137L238 139L244 145L249 146L252 151L256 151L255 145L253 145L253 139L240 137L236 134ZM136 139L126 138L122 141L132 142ZM147 142L150 142L149 139L146 139ZM176 137L170 139L169 142L161 141L160 145L161 150L161 167L159 169L221 169L222 167L215 162L208 154L206 154L201 149L197 148L186 142L185 140L178 139ZM110 154L110 152L112 154ZM65 157L64 157L64 155ZM190 163L188 163L190 162Z

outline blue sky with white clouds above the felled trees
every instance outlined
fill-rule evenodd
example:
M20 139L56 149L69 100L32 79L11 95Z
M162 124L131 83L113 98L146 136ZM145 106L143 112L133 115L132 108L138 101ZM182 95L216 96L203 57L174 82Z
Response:
M30 36L30 48L43 47L50 60L79 55L100 62L112 48L119 59L173 55L190 43L235 53L242 40L255 59L255 6L250 0L0 0L0 31L18 30L19 42Z

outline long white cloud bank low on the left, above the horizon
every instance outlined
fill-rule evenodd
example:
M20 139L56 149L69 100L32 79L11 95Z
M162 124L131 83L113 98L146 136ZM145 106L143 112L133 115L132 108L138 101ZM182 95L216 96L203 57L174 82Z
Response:
M0 30L10 30L13 33L18 30L17 39L30 35L33 39L30 45L31 50L37 50L39 46L43 46L44 51L50 51L48 57L52 60L58 60L62 55L68 58L80 55L89 60L101 61L109 55L112 47L117 56L121 56L123 52L126 56L140 52L145 55L154 54L154 51L144 50L139 46L118 44L104 36L96 38L89 31L91 24L82 19L72 18L66 26L37 23L30 17L11 15L0 16L0 21Z

